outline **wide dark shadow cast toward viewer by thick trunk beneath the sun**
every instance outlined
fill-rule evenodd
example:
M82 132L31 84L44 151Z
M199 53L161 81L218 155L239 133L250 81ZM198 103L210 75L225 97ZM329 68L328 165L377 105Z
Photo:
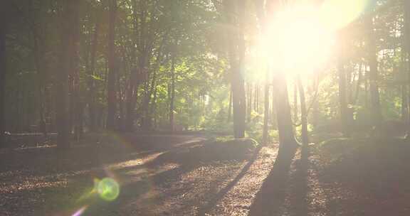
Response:
M290 164L297 149L284 150L279 152L272 171L266 177L261 189L256 193L256 198L253 200L248 215L273 216L280 215L281 210L283 210L286 188L288 188Z

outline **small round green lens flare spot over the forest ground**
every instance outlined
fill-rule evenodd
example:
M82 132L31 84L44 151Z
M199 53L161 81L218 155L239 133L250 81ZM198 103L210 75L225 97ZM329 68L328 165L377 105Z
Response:
M102 200L113 201L120 195L120 185L112 178L98 180L95 187L95 190Z

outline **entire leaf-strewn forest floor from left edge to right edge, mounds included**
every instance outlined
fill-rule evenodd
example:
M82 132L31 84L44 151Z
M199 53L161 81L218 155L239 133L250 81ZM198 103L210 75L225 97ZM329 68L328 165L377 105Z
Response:
M258 193L275 171L276 145L228 152L199 135L95 139L64 156L55 146L1 150L0 215L248 215L253 205L270 215L410 215L410 148L402 141L352 141L343 153L340 144L311 146L308 157L296 153L275 190ZM115 200L93 190L102 178L120 185Z

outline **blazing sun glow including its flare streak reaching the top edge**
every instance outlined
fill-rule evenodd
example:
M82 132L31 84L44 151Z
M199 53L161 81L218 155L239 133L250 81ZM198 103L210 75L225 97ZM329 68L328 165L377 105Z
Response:
M325 1L283 9L268 24L258 52L273 72L310 74L324 68L333 54L337 30L354 21L365 6L360 1Z

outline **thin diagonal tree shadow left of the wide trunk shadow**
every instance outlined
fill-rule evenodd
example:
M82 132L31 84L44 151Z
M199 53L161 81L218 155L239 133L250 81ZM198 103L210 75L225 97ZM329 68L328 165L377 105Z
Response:
M236 183L238 183L238 181L241 180L241 178L243 178L244 175L246 175L249 168L251 168L253 162L255 162L256 158L258 158L258 155L261 149L262 149L262 146L258 146L258 148L256 148L255 152L253 153L252 158L250 158L248 163L246 163L246 165L243 166L241 173L238 173L238 175L236 175L236 177L230 183L228 183L228 185L226 185L225 188L221 189L219 193L217 193L212 200L209 200L209 202L206 205L199 208L198 210L199 216L206 215L207 212L211 211L212 208L219 202L219 200L224 198L224 195L226 195L226 193L228 193L229 190L231 190L233 186L235 186Z

